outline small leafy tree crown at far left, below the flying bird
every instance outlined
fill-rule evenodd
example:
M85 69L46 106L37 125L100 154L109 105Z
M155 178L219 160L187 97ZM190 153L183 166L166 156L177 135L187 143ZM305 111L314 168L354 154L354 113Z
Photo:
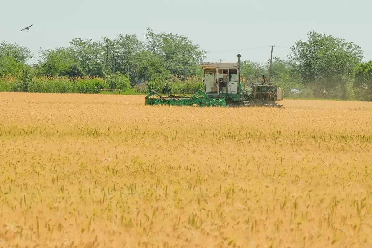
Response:
M28 59L33 58L30 49L6 41L0 44L0 57L13 57L20 64L25 64Z

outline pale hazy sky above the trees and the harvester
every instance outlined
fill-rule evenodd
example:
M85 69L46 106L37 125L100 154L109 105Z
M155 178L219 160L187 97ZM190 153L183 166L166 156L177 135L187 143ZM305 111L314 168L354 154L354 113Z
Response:
M39 48L120 33L144 39L147 27L189 37L208 51L208 62L235 62L238 53L243 60L266 62L271 45L277 46L274 57L286 58L290 50L278 46L306 39L310 30L354 42L365 60L372 59L368 0L3 0L0 8L0 41L30 48L35 58L28 63L38 60Z

